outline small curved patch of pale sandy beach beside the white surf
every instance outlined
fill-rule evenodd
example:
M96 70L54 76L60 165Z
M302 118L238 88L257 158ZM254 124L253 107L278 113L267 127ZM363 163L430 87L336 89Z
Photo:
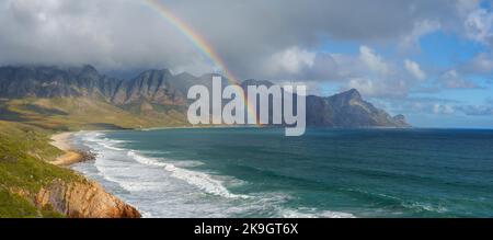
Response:
M85 159L84 155L79 150L76 150L69 142L69 138L71 133L61 133L51 136L51 145L57 147L60 150L64 150L65 153L55 161L50 161L51 164L67 167Z

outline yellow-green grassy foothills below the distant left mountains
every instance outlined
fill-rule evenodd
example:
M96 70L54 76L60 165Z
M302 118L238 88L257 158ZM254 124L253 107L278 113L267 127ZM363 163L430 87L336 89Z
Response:
M122 107L88 98L24 98L0 102L0 119L51 130L122 129L183 126L185 116L173 107L156 108L145 101ZM156 110L156 111L154 111Z

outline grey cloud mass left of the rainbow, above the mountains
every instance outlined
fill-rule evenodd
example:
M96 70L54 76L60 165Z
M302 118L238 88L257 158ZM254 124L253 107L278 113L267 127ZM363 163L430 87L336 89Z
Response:
M1 1L0 64L93 64L105 69L193 65L194 71L210 71L210 64L176 30L149 13L129 0Z

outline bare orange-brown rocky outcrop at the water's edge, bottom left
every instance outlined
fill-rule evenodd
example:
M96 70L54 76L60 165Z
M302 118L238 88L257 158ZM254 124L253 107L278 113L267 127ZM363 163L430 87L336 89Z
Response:
M140 213L117 197L106 193L93 181L55 182L43 187L34 199L38 207L74 218L139 218Z

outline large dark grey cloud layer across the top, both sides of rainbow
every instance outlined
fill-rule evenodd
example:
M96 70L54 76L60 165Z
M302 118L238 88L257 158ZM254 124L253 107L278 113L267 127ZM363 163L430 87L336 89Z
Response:
M325 80L340 76L332 56L316 53L326 38L412 45L438 27L465 32L463 21L477 8L474 1L449 0L162 2L242 78ZM141 0L2 0L0 23L2 65L89 62L113 70L169 67L194 73L213 69ZM295 55L307 55L288 62L299 71L273 71L277 62L272 60L295 48Z

